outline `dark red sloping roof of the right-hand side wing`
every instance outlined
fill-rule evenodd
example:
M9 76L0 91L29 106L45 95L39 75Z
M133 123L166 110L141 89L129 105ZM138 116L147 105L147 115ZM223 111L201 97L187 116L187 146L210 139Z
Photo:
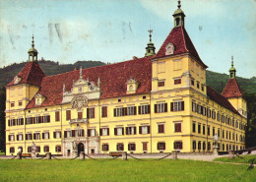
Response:
M224 106L228 110L239 114L240 113L231 105L231 103L225 98L222 94L220 94L218 91L213 90L211 87L207 86L207 95L220 105Z

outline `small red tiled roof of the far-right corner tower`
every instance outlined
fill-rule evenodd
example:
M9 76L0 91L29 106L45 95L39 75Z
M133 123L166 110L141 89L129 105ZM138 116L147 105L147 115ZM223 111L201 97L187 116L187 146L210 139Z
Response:
M222 94L226 98L243 96L236 79L229 79L227 81Z

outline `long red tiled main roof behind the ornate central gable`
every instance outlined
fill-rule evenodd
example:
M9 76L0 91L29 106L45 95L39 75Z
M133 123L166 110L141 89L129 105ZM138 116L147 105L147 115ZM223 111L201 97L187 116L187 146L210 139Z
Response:
M153 56L140 59L125 61L121 63L98 66L94 68L83 69L83 78L97 84L100 80L100 98L109 98L127 95L126 82L133 78L139 83L139 87L134 94L149 93L152 88L152 62ZM80 71L72 71L59 75L44 77L41 88L38 91L46 99L42 105L36 106L34 98L27 105L27 108L57 105L62 102L63 84L66 91L70 91L73 81L79 79ZM129 94L130 95L130 94Z

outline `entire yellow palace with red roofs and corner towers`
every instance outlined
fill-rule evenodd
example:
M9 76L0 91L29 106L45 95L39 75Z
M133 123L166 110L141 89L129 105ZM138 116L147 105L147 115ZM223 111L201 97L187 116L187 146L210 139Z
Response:
M37 50L6 86L6 153L75 156L79 152L213 152L245 148L246 100L229 69L222 94L206 86L206 69L185 14L155 53L143 58L46 76Z

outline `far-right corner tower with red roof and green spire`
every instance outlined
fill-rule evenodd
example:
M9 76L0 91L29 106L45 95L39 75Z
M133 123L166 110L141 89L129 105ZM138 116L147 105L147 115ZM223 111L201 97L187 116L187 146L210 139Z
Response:
M231 68L229 69L229 79L222 93L232 106L245 118L247 118L247 103L243 93L236 81L236 70L233 66L233 56L231 57Z

